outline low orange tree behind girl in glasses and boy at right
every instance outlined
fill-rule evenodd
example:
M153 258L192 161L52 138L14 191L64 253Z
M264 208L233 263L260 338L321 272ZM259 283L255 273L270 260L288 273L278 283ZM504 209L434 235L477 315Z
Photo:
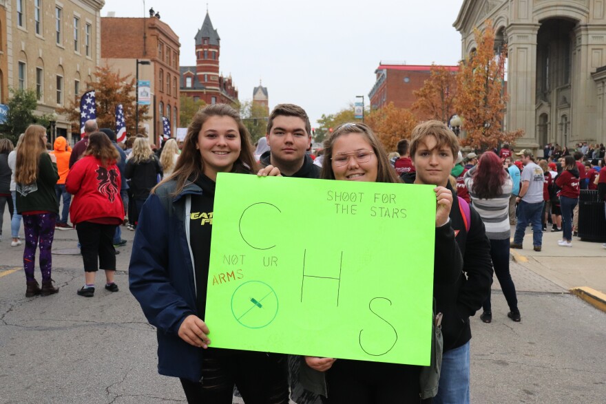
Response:
M395 151L397 142L410 139L417 126L417 117L409 109L397 108L393 103L375 109L366 117L366 124L373 129L387 152Z

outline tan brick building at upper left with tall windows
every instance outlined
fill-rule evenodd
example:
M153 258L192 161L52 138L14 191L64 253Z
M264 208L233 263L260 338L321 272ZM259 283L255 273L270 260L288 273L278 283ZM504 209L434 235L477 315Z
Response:
M100 58L103 0L0 1L0 100L7 87L33 89L35 114L56 119L54 136L71 138L71 123L55 109L85 91ZM2 21L6 12L6 21ZM4 30L6 27L6 41ZM52 140L52 139L50 139Z

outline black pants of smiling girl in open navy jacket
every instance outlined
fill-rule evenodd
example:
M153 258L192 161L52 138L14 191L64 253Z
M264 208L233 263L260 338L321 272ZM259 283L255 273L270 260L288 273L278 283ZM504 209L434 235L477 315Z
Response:
M286 355L209 348L202 382L180 379L189 404L231 404L233 385L246 404L288 404Z

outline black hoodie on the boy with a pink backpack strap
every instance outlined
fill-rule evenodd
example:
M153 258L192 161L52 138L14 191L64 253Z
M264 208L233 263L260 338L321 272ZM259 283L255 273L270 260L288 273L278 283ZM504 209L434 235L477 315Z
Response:
M401 179L406 184L415 182L416 173L404 173ZM456 198L457 192L450 187ZM456 199L454 199L456 201ZM444 351L459 348L471 339L469 317L482 307L486 297L490 294L492 285L492 258L490 257L490 241L486 237L482 218L470 206L469 232L463 222L463 214L457 204L453 203L450 209L450 225L456 234L455 240L459 243L463 254L463 273L459 277L457 286L435 285L434 297L437 311L442 312L442 334L444 337Z

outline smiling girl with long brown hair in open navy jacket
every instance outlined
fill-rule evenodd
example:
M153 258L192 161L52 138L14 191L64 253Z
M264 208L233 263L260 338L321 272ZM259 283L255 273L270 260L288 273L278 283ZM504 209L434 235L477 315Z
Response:
M255 169L238 111L208 105L139 217L130 290L158 329L158 372L180 378L189 403L231 403L234 384L246 403L289 402L284 355L209 348L212 324L204 321L217 174Z

